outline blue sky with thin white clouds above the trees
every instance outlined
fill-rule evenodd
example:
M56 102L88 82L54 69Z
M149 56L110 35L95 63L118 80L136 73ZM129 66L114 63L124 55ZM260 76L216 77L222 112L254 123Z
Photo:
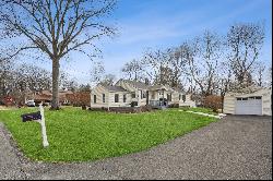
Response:
M225 35L234 23L265 23L265 41L260 59L272 61L271 0L118 0L109 20L118 35L96 43L102 50L106 73L121 77L121 67L139 59L147 48L165 49L201 35L205 29ZM84 55L72 53L61 62L61 70L79 83L90 82L93 62ZM50 70L50 61L40 63Z

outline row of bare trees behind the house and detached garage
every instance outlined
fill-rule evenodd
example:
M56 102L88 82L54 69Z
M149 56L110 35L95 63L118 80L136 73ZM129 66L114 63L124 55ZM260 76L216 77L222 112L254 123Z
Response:
M260 60L262 23L236 23L226 35L205 31L201 36L165 50L149 49L127 62L126 79L179 87L202 96L222 95L257 84L271 86L272 68Z

